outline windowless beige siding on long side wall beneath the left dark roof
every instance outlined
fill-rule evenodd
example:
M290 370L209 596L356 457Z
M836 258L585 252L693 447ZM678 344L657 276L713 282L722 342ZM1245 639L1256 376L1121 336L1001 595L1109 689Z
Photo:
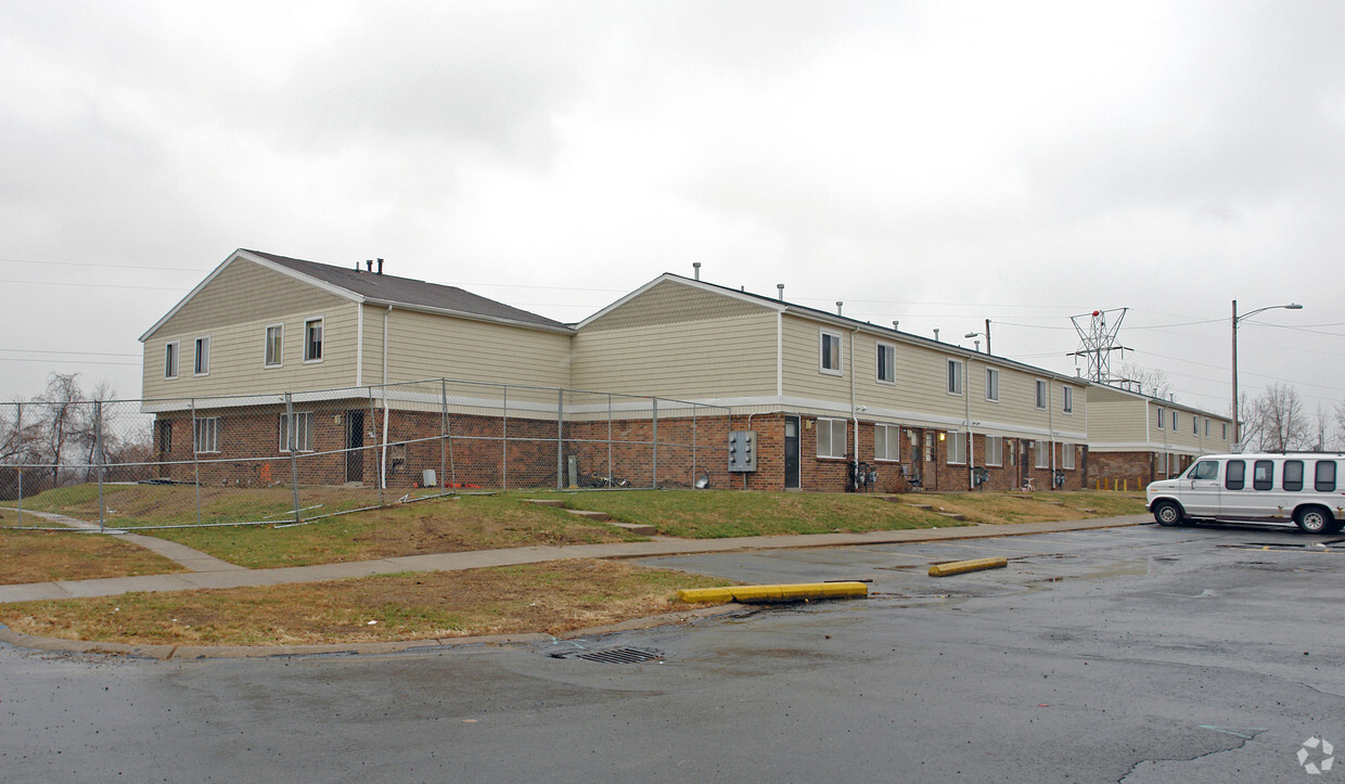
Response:
M386 307L364 308L364 383L383 374ZM569 335L393 308L387 378L569 386Z

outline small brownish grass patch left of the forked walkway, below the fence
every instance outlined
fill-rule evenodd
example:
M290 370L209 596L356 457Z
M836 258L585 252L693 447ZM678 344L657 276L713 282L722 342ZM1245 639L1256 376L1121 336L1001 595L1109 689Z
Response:
M186 572L143 547L75 531L0 533L0 584L94 580Z

